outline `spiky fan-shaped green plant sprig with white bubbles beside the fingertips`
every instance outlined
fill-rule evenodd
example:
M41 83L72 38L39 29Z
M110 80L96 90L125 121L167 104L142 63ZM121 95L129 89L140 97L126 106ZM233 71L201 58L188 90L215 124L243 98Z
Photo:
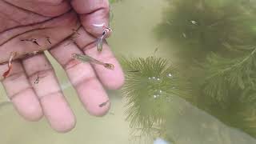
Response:
M174 108L172 98L190 98L188 83L165 58L122 58L121 62L126 70L122 89L126 119L134 130L152 133Z

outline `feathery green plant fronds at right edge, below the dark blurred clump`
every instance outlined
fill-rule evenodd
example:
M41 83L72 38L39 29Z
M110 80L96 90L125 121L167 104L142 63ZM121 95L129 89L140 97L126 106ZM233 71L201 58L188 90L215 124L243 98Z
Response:
M210 54L203 68L207 77L203 84L203 92L218 101L226 101L231 90L245 90L254 87L256 82L256 48L238 58L222 58Z

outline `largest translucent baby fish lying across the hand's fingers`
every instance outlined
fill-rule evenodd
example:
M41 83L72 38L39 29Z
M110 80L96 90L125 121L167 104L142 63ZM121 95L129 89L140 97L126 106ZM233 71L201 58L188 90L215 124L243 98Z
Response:
M72 54L72 58L78 59L78 61L81 61L81 62L94 62L98 65L102 65L102 66L106 67L107 69L114 70L114 65L113 64L101 62L101 61L99 61L95 58L91 58L89 55Z

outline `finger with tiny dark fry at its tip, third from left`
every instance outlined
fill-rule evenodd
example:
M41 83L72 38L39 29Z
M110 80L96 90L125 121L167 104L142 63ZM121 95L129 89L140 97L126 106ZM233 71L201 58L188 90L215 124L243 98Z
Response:
M66 70L70 82L78 92L86 110L95 116L102 116L110 109L109 98L101 82L98 81L90 63L82 63L71 57L71 54L82 54L74 43L66 46L66 42L50 50L50 54ZM102 103L106 102L102 106Z

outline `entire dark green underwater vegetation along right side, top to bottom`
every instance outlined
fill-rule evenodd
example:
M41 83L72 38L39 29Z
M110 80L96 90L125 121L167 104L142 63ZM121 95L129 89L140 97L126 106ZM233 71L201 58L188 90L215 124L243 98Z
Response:
M255 14L250 0L170 0L155 29L186 59L195 105L254 138Z

